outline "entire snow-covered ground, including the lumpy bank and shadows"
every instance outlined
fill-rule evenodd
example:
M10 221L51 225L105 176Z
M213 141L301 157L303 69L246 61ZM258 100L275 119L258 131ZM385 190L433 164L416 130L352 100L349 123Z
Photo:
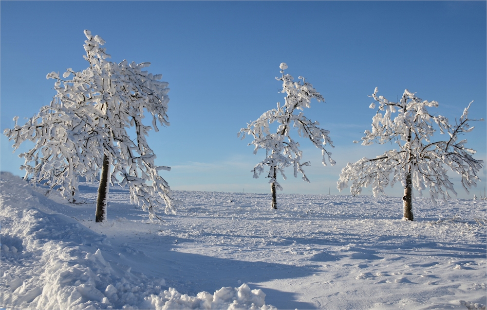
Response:
M152 223L96 185L63 205L1 174L1 308L485 309L486 201L175 191ZM57 202L55 202L55 200ZM206 293L210 292L210 293Z

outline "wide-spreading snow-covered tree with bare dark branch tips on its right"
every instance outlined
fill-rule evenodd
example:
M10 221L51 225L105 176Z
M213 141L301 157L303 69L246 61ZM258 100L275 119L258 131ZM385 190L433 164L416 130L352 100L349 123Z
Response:
M449 193L456 196L447 175L450 169L460 174L462 186L467 192L472 185L477 186L477 175L483 161L474 159L472 155L476 151L465 147L466 139L460 139L461 135L474 128L469 125L470 121L483 121L468 118L471 103L460 119L450 124L446 117L428 112L427 107L438 107L435 101L423 101L406 89L399 102L390 102L383 96L377 96L377 91L375 88L372 96L369 96L375 100L370 108L374 109L377 104L378 108L372 118L372 132L365 131L362 145L391 142L396 144L396 148L372 159L364 157L355 163L348 163L337 182L340 191L352 181L350 191L353 195L360 194L362 187L371 185L374 196L377 196L384 194L385 187L401 182L404 187L404 219L412 221L413 188L420 195L423 190L429 189L435 205L438 197L446 201ZM395 117L394 113L397 113ZM445 139L432 139L437 130L435 128Z

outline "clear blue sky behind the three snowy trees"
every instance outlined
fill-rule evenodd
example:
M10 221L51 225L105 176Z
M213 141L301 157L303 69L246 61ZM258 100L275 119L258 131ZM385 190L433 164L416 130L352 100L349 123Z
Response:
M150 62L169 82L171 125L149 143L156 163L172 167L162 173L172 189L270 191L268 179L250 172L264 153L253 155L237 132L283 101L274 79L281 62L324 96L304 112L331 131L337 161L323 167L303 140L311 184L289 171L285 193L337 194L348 161L383 153L352 143L370 129L367 95L376 86L390 100L405 88L436 100L431 112L451 121L475 100L470 117L486 118L485 1L1 1L0 9L1 129L50 103L47 73L86 69L89 29L112 61ZM486 122L475 125L468 145L486 160ZM3 135L0 142L1 170L23 175L20 152ZM485 169L481 178L477 195ZM459 197L473 196L455 184ZM401 195L398 185L387 193Z

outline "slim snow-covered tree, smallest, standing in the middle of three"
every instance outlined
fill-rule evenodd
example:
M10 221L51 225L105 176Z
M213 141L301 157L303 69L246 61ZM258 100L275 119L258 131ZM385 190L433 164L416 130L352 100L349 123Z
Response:
M250 123L247 127L242 128L238 133L238 137L242 134L242 139L245 135L252 135L254 140L248 145L254 145L254 154L257 154L259 149L264 149L266 152L265 159L255 165L252 172L254 178L258 178L264 171L265 166L269 167L267 175L270 178L272 193L272 208L277 208L276 202L276 188L282 190L281 185L277 181L277 172L280 172L283 179L286 179L284 169L293 167L294 177L298 176L298 172L302 174L302 179L309 183L306 174L304 174L303 166L309 166L310 163L303 162L302 151L299 149L299 142L291 138L292 128L296 128L298 134L302 138L308 138L318 149L321 150L323 156L323 165L326 166L325 155L331 165L335 165L335 161L331 158L331 153L325 149L329 144L333 147L332 141L328 134L328 130L319 128L318 121L311 121L303 114L304 108L309 108L311 99L315 98L318 102L324 101L313 85L307 82L302 76L299 77L299 82L293 82L294 78L289 74L284 74L287 69L285 63L281 63L281 77L276 77L276 80L282 81L282 91L285 93L284 104L277 103L277 108L269 110L262 114L262 116ZM302 83L301 83L302 82ZM276 133L270 133L269 125L276 122Z

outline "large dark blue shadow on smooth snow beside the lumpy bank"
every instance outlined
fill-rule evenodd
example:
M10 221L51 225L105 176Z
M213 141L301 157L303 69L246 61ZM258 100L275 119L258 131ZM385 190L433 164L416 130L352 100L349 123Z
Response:
M108 253L103 254L108 261L114 258L107 255ZM313 304L296 301L295 293L268 289L252 283L310 275L315 273L319 266L298 267L262 261L215 258L169 249L161 251L160 248L159 250L144 249L141 254L125 254L125 258L124 264L132 266L131 273L165 278L166 285L180 293L188 295L196 295L203 291L214 293L222 287L239 287L247 283L251 289L261 288L266 294L266 304L279 309L316 308ZM112 261L119 260L115 258Z

